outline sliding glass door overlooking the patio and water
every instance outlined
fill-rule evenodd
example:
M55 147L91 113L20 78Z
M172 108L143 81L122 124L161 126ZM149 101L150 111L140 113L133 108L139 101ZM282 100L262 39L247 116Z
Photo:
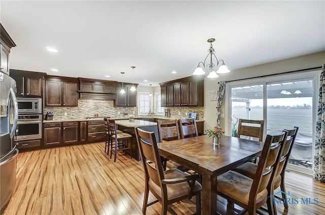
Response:
M238 120L265 120L264 137L299 127L290 168L311 173L317 108L318 72L268 77L226 84L228 135L236 136Z

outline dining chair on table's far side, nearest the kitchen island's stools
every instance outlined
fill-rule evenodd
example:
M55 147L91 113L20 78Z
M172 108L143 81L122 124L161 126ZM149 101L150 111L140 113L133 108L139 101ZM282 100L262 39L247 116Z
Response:
M157 126L159 142L180 139L179 126L177 120L157 120ZM164 170L166 170L167 166L168 168L177 168L184 172L189 170L188 168L180 165L179 163L176 163L175 161L171 161L164 157L161 157L161 161L163 161Z

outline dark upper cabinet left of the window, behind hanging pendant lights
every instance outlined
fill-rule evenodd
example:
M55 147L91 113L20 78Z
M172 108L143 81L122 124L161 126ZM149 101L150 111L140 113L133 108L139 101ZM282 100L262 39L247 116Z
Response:
M114 100L114 106L137 106L137 91L131 91L132 84L124 83L123 88L125 93L120 93L122 89L121 83L116 87L116 100ZM138 85L135 84L137 87Z

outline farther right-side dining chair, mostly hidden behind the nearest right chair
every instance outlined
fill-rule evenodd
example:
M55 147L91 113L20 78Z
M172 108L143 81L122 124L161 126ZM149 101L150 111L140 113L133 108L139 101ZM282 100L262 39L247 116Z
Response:
M280 159L278 161L278 166L274 165L274 169L275 169L275 174L273 175L272 181L270 181L270 185L269 185L269 192L270 192L270 196L273 196L274 194L274 190L277 189L278 187L280 187L281 189L281 194L282 194L282 199L286 199L286 191L285 191L285 185L284 185L284 175L285 175L285 168L287 165L287 162L289 160L289 156L291 153L291 150L293 149L294 146L294 142L298 133L298 129L299 127L294 127L293 129L285 129L283 130L283 132L286 132L287 136L286 139L284 141L283 144L283 150L281 152L280 155ZM253 178L254 174L256 172L257 169L257 164L251 163L251 162L247 162L244 163L243 165L237 167L234 169L234 171L239 172L243 175L246 175L247 177ZM274 196L274 198L278 198L281 199L277 196ZM272 199L270 199L271 201ZM271 202L269 202L270 204ZM283 201L284 204L284 210L288 210L288 204L287 201ZM276 205L275 204L271 204L273 205L273 211L274 214L277 213L276 210Z

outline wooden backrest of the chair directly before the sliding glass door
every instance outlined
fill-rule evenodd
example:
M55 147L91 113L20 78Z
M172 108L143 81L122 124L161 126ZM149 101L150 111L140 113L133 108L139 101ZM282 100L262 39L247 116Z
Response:
M257 137L258 141L263 141L264 120L239 119L237 137L243 136Z

